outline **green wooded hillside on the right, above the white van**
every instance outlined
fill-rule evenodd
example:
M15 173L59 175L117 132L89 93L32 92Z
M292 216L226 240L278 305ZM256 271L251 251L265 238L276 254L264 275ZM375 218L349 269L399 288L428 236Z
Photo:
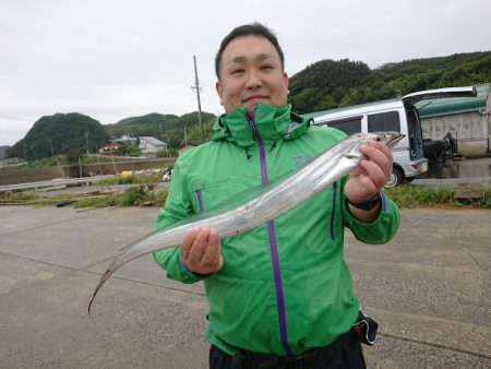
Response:
M361 61L322 60L290 79L289 103L303 114L490 81L491 51L406 60L378 69Z

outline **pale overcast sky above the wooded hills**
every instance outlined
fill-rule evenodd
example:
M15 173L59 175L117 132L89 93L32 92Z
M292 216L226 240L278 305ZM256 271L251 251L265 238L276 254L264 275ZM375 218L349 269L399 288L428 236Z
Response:
M239 24L273 28L291 76L323 59L488 51L490 14L489 0L0 0L0 145L56 112L106 124L197 110L193 56L202 109L221 114L213 63Z

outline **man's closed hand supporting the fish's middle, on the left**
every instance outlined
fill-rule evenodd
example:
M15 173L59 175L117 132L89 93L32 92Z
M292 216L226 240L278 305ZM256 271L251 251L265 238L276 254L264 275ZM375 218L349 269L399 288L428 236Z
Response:
M224 266L218 233L209 228L194 228L181 245L181 261L191 272L211 274Z

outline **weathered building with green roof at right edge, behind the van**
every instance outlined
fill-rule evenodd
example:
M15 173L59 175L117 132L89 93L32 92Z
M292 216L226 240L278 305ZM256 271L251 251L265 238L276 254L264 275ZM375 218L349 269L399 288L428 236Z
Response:
M491 83L475 86L476 97L421 100L416 104L423 139L442 140L448 132L464 156L491 151Z

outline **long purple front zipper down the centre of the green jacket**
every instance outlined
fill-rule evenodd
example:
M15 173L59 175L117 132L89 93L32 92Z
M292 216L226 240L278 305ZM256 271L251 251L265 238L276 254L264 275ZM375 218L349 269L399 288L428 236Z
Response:
M255 127L255 106L252 117L248 115L249 126L251 128L252 133L258 140L259 148L260 148L260 159L261 159L261 180L263 184L266 184L267 179L267 169L266 169L266 154L264 151L264 142L258 132L258 128ZM278 258L278 247L276 243L276 235L275 235L275 225L273 221L267 222L267 234L270 236L270 247L271 247L271 257L273 259L273 272L275 276L275 287L276 287L276 301L278 306L278 317L279 317L279 333L282 335L282 344L287 355L291 355L291 348L288 345L287 338L287 330L286 330L286 316L285 316L285 298L283 295L283 284L282 284L282 273L279 271L279 258Z

